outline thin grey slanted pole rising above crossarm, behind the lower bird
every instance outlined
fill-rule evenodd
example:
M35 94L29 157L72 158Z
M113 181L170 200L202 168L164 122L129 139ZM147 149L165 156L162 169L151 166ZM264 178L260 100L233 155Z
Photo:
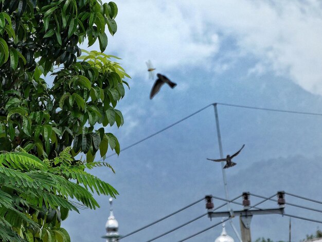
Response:
M220 127L219 127L219 117L218 117L218 110L217 110L217 103L213 103L213 108L214 108L214 117L216 118L216 128L217 128L217 137L218 137L218 145L219 145L219 152L220 152L220 159L224 158L224 154L223 154L223 147L222 147L222 143L221 143L221 135L220 135ZM222 170L222 174L223 174L223 181L224 181L224 188L225 188L225 195L226 195L226 199L229 200L229 196L228 196L228 189L227 189L227 179L226 179L226 172L224 170L224 166L225 166L225 162L221 162L221 170ZM231 213L231 209L230 209L230 203L227 203L227 209L228 211L230 211L230 214L228 217L234 217L232 216L233 214ZM240 235L238 234L234 223L232 223L231 219L229 219L229 223L231 228L234 230L236 236L238 237L240 242L243 242Z

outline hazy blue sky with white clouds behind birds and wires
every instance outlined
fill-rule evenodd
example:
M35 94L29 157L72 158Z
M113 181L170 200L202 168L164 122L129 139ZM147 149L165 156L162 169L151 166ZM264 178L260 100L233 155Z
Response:
M322 4L305 0L122 0L114 37L106 53L116 55L132 79L118 103L124 125L108 127L127 147L210 103L322 113ZM84 48L84 47L83 47ZM86 47L85 47L86 48ZM98 43L88 49L99 49ZM152 99L156 73L177 83L164 85ZM245 148L237 165L226 170L230 198L249 191L271 196L287 191L322 200L321 116L218 106L224 155ZM113 154L113 151L109 151ZM213 107L106 160L116 170L96 168L94 175L119 192L114 215L124 235L207 194L224 198ZM62 224L71 241L104 241L109 198L100 209L71 213ZM252 197L252 204L256 198ZM287 196L287 201L322 210L320 204ZM289 199L289 200L288 200ZM253 202L254 201L254 202ZM241 199L239 200L241 202ZM220 201L214 201L220 204ZM269 208L276 203L267 203ZM235 208L235 207L234 207ZM266 208L266 204L262 205ZM241 209L236 206L236 209ZM223 209L222 211L224 211ZM285 208L288 214L320 220L320 214ZM146 241L205 213L200 202L182 214L121 241ZM156 241L177 241L221 218L202 218ZM233 219L239 231L238 218ZM252 238L288 240L289 218L254 217ZM319 223L292 219L292 241L314 233ZM227 233L238 241L230 224ZM187 241L214 241L221 226Z

